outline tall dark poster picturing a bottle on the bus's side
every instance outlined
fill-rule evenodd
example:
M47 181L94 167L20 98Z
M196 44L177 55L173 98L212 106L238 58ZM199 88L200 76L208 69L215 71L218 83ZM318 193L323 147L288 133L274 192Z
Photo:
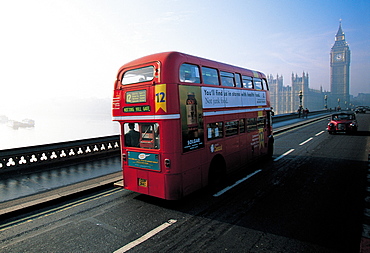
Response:
M180 85L182 149L188 152L204 147L203 106L200 87Z

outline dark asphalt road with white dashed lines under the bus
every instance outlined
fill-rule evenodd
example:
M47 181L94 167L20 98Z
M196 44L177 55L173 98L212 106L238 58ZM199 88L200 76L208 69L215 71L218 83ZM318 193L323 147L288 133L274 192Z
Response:
M370 114L358 119L356 135L326 119L276 135L274 161L217 197L111 188L2 221L0 252L359 252Z

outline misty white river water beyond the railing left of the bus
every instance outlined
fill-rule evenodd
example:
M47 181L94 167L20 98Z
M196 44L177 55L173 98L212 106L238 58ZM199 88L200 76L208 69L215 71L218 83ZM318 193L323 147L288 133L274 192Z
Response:
M9 117L10 118L10 117ZM17 119L18 120L18 119ZM19 119L21 121L22 119ZM0 150L119 134L119 124L107 114L36 115L34 127L0 123Z

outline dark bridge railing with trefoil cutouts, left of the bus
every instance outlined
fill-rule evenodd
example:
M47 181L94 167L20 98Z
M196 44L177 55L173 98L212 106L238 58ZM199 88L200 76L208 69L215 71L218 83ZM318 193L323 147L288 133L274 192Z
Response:
M119 135L0 150L0 173L120 154Z

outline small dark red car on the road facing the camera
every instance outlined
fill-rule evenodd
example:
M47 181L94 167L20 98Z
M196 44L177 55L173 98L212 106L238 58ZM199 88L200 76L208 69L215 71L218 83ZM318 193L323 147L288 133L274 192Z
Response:
M327 130L329 134L336 132L355 133L357 128L356 115L351 112L342 112L331 115Z

